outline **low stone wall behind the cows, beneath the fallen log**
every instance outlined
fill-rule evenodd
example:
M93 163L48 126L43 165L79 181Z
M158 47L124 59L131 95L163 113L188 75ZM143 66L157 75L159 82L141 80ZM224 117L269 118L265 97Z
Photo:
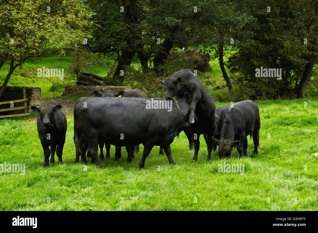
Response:
M64 92L61 94L62 97L64 96L77 96L77 95L84 95L84 96L91 96L93 95L93 90L97 90L99 92L103 92L106 90L111 90L113 92L118 92L120 90L130 90L131 87L129 86L83 86L83 85L67 85L65 86Z

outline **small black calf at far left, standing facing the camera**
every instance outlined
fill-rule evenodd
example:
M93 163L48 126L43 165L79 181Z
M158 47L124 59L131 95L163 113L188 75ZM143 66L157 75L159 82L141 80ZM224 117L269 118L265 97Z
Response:
M37 127L39 139L44 151L44 167L49 166L49 158L51 153L50 163L54 163L54 154L59 158L59 164L63 164L62 152L65 143L65 134L67 130L66 117L60 110L62 105L44 104L39 108L31 106L33 112L38 113ZM51 151L49 149L51 147ZM57 147L57 148L56 148Z

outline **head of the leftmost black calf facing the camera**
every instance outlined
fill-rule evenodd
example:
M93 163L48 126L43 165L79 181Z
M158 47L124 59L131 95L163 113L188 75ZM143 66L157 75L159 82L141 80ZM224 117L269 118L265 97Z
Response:
M51 105L51 104L44 104L40 107L31 106L31 109L33 112L38 113L40 116L40 119L45 127L51 126L54 123L55 118L55 112L59 111L61 109L62 105Z

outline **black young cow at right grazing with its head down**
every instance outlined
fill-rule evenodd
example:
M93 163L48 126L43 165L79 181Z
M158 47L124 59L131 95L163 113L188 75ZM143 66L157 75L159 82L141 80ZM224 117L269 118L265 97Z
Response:
M253 136L254 154L258 154L259 128L259 108L252 100L224 108L218 123L220 140L213 138L218 145L220 159L228 158L233 147L237 147L240 158L247 156L247 135Z

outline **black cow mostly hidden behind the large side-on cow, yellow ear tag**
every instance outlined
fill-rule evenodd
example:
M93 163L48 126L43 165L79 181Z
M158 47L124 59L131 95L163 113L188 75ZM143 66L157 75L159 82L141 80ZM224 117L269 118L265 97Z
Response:
M103 93L100 93L97 90L93 90L93 94L96 97L139 97L139 98L148 98L146 93L143 93L140 89L131 89L127 91L119 91L117 93L114 93L111 90L104 91ZM106 148L106 158L110 158L109 150L110 150L110 144L104 141L100 141L99 147L100 147L100 159L104 160L104 154L103 154L103 147L105 143ZM139 152L139 145L136 145L135 147L135 153ZM132 151L131 154L132 158L135 158L134 151ZM115 158L121 158L121 147L116 147L115 149Z

